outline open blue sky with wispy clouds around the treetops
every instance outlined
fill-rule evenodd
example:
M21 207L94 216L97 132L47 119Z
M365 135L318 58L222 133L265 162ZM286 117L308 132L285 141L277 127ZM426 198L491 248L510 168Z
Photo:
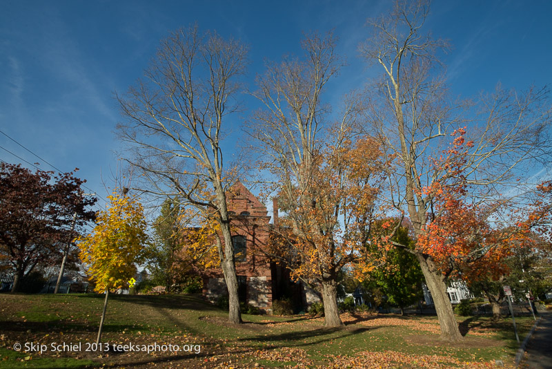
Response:
M0 4L0 130L62 171L75 167L106 196L117 169L124 93L155 54L159 40L197 22L250 47L249 81L264 59L299 53L302 32L334 29L348 66L328 88L335 100L376 71L359 59L368 17L389 1L8 1ZM427 29L450 39L444 57L455 95L552 83L552 2L434 1ZM379 73L379 71L378 71ZM251 108L253 106L246 106ZM247 111L245 111L245 114ZM233 124L239 130L240 120ZM0 133L0 146L41 162ZM0 149L0 159L21 162ZM28 166L23 162L23 165ZM52 169L48 164L41 169Z

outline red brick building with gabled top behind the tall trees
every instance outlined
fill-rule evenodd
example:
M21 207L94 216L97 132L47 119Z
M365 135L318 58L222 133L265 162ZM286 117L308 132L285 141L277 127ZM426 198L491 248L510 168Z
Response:
M228 211L232 225L232 243L235 252L239 300L270 312L275 300L289 298L295 305L304 307L317 301L317 296L301 282L290 280L290 271L270 260L266 243L270 230L277 227L277 203L274 206L274 221L266 206L241 182L237 182L227 194ZM228 290L222 269L212 268L201 272L203 294L216 303Z

